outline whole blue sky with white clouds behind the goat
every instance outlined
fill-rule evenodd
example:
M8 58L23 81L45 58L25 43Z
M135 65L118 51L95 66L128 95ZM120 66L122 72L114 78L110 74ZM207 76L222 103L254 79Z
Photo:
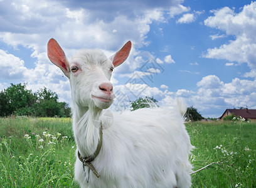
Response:
M132 41L112 78L113 110L145 96L162 107L183 97L203 117L256 108L255 1L0 0L0 90L25 82L70 102L67 78L46 55L50 38L68 58L82 48L111 56Z

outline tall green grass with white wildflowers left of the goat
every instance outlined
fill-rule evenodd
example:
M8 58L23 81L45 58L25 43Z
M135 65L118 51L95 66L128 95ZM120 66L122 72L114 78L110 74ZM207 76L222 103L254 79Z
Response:
M78 187L69 118L1 118L0 185Z

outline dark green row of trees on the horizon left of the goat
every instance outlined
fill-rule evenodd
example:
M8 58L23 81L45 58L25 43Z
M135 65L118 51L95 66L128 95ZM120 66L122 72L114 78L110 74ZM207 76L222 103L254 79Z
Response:
M0 92L0 116L70 117L70 107L58 102L58 95L41 88L33 93L26 83L12 84Z

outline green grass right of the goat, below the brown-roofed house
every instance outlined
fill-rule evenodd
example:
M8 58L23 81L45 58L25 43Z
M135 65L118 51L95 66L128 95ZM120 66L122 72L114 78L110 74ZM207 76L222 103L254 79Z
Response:
M256 123L195 122L186 125L195 149L193 187L256 187Z

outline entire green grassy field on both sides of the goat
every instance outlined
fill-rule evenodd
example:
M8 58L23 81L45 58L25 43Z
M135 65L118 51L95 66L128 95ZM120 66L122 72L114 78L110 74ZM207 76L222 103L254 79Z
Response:
M256 187L256 123L186 123L192 187ZM70 118L0 118L1 187L78 187Z

